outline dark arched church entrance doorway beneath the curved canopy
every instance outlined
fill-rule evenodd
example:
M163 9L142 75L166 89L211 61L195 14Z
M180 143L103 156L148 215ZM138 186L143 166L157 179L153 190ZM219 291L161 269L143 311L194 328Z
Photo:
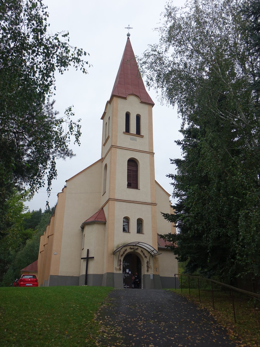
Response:
M132 276L137 272L139 278L139 288L142 288L142 264L138 255L128 253L124 256L123 264L123 287L132 288Z

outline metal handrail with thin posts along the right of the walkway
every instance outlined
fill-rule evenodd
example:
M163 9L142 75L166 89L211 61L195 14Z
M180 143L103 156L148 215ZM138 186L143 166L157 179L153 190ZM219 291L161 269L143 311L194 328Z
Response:
M222 286L222 287L226 287L231 291L231 295L232 295L232 303L233 303L233 312L234 312L234 320L236 323L236 315L235 315L235 305L234 305L234 296L233 296L233 290L237 291L239 293L243 293L245 295L251 296L253 298L256 298L257 300L260 301L260 294L257 293L252 293L251 291L247 291L244 289L239 289L233 286L230 286L226 283L222 283L216 280L213 280L211 278L206 278L206 277L201 277L201 276L196 276L196 275L188 275L188 274L184 274L184 273L175 273L174 274L174 278L175 278L175 290L176 290L176 275L179 277L181 276L181 292L182 292L182 276L188 276L189 279L189 293L190 293L190 277L193 278L197 278L198 279L198 290L199 290L199 301L200 301L200 286L199 286L199 280L206 280L206 281L210 281L211 282L211 292L212 292L212 302L213 302L213 310L215 310L215 305L214 305L214 290L213 290L213 282ZM190 295L191 296L191 295Z

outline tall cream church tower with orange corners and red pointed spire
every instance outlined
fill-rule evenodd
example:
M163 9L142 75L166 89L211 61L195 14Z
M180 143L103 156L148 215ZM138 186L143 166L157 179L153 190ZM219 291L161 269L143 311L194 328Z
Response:
M120 267L121 257L117 264L118 257L112 259L110 254L121 245L138 242L157 251L153 106L128 36L112 94L102 116L103 170L107 179L102 203L107 203L104 206L107 219L113 219L107 226L107 272ZM157 257L149 266L156 274Z

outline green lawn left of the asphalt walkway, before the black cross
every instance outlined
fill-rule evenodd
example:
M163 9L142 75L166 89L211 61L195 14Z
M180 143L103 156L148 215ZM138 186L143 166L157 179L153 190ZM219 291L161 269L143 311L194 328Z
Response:
M96 346L109 287L0 288L0 346Z

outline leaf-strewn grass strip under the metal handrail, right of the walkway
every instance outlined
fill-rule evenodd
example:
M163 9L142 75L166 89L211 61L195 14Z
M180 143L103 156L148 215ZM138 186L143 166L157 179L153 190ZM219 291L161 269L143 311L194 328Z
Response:
M175 291L175 290L174 290ZM177 294L181 294L181 289L176 290ZM214 318L227 328L229 336L239 341L241 346L260 347L260 303L257 301L254 307L254 301L248 296L234 295L236 324L234 322L232 297L229 290L214 290L213 310L211 290L201 290L199 302L198 289L191 289L191 297L189 297L189 289L182 289L182 294L196 303L198 306L206 308Z

